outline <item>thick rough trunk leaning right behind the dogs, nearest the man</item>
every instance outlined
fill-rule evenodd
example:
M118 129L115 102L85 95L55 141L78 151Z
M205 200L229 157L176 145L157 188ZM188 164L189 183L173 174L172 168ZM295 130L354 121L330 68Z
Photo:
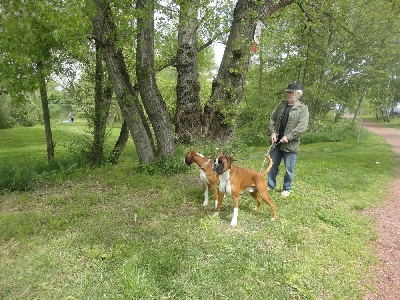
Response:
M209 138L229 141L234 137L235 117L243 96L256 23L293 1L237 1L218 75L204 108L204 131Z

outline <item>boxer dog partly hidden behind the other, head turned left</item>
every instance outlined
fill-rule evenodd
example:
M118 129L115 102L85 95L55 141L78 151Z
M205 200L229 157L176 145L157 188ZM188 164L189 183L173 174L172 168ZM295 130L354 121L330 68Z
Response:
M190 166L191 164L196 164L200 169L200 181L203 184L203 190L204 190L203 206L208 205L208 191L209 188L211 188L214 193L215 207L217 207L218 204L217 182L219 175L216 174L212 169L214 160L209 159L204 155L200 154L199 152L193 150L186 153L184 161L187 166Z

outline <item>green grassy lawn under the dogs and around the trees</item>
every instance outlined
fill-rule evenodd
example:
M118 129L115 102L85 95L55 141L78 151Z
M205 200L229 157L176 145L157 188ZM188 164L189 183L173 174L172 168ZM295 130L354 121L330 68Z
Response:
M84 128L53 125L56 159ZM23 176L45 163L43 128L0 135L0 164ZM259 170L265 151L241 149L236 164ZM377 234L365 212L399 167L383 139L302 145L293 193L271 192L279 220L243 194L237 227L230 197L219 217L203 208L196 167L162 176L136 164L130 142L118 166L0 194L0 298L360 299L369 287Z

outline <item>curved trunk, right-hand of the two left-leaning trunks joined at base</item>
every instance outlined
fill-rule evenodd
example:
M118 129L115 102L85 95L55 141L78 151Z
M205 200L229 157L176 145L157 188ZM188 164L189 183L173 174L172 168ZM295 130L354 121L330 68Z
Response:
M174 154L172 124L158 89L154 70L154 6L152 0L138 0L136 77L139 93L157 140L157 155Z

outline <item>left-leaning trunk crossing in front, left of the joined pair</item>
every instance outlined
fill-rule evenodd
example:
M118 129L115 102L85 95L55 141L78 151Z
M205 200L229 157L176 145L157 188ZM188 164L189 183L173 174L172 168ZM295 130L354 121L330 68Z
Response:
M121 113L135 143L139 161L141 163L151 162L155 158L155 147L150 127L147 124L138 94L130 81L122 51L115 46L116 30L115 24L112 22L110 3L102 0L93 1L97 8L97 14L93 20L96 39L105 49L104 58Z

